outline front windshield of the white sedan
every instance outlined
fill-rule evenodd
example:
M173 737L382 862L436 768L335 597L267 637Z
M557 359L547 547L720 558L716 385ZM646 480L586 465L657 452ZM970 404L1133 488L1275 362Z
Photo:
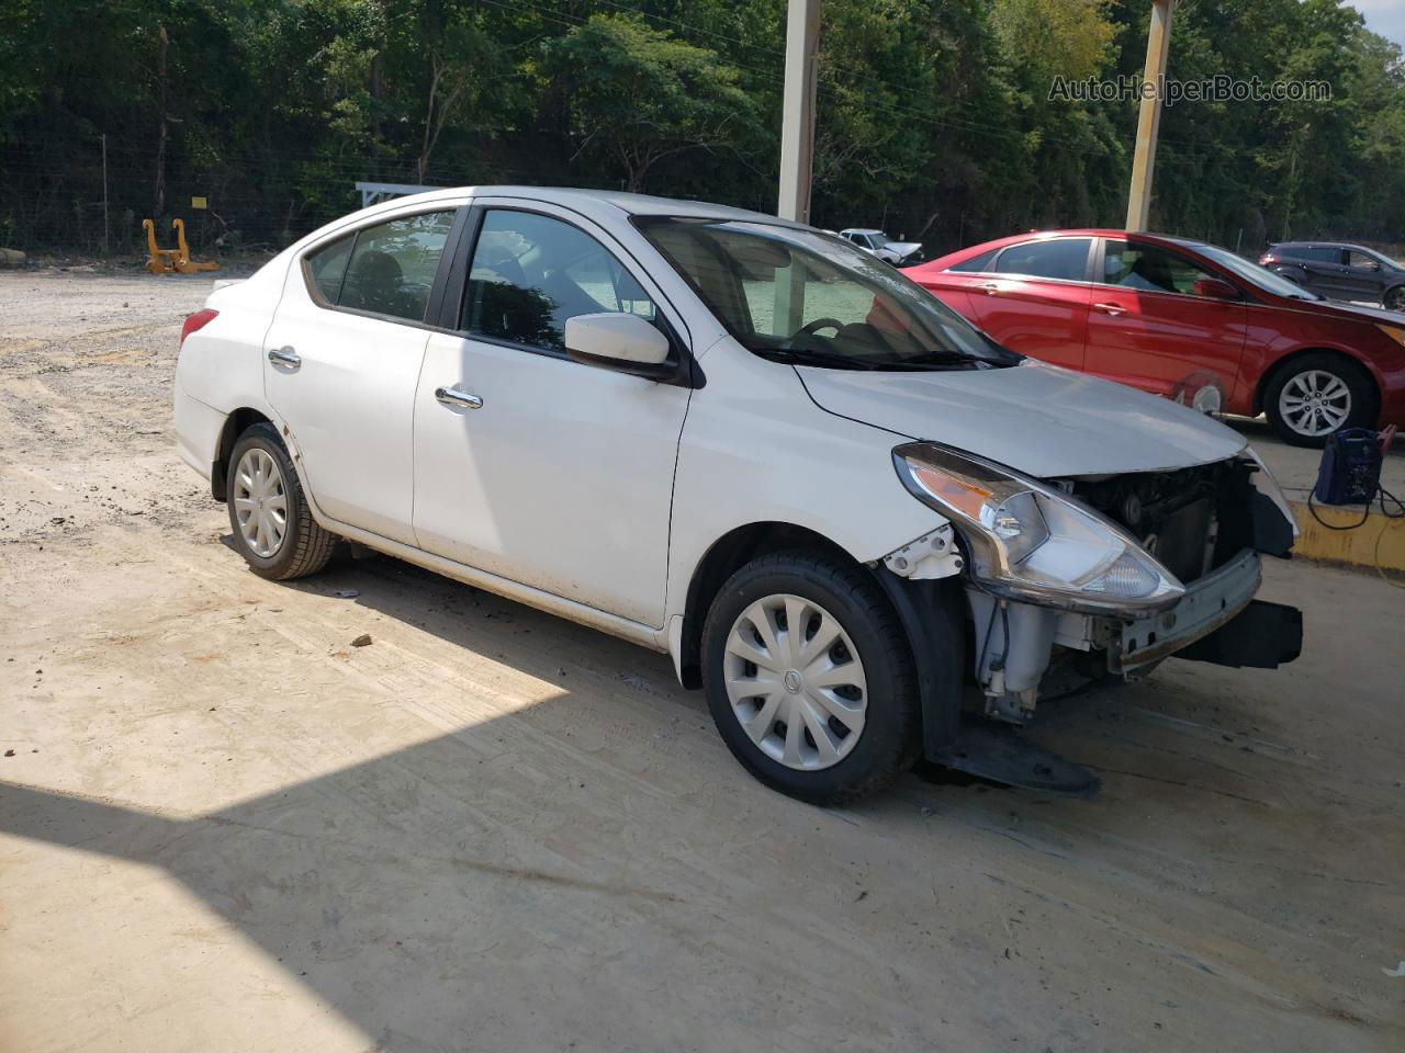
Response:
M982 369L1021 359L840 237L769 223L635 222L763 358L828 369Z

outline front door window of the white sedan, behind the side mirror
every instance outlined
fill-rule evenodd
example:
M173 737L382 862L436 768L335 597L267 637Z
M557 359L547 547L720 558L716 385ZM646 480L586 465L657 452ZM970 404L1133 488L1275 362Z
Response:
M655 306L590 234L534 212L493 209L473 247L461 327L565 352L566 320L603 310L655 320Z

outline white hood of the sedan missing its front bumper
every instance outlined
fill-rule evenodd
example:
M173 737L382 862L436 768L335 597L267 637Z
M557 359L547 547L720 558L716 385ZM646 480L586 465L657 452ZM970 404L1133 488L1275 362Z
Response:
M1190 468L1248 445L1196 410L1034 359L1007 369L797 372L829 413L1037 479Z

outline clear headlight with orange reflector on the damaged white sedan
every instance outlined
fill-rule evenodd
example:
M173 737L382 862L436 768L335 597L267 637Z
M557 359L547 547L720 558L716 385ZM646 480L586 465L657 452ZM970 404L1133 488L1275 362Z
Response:
M898 477L961 534L971 577L1040 607L1141 616L1186 594L1135 538L1055 487L934 442L892 452Z

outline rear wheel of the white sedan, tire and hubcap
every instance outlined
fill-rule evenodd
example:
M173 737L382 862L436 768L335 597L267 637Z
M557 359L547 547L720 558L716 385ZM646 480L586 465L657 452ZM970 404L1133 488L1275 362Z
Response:
M271 424L254 424L235 442L228 501L235 548L260 577L305 577L332 559L336 535L308 511L298 473Z

